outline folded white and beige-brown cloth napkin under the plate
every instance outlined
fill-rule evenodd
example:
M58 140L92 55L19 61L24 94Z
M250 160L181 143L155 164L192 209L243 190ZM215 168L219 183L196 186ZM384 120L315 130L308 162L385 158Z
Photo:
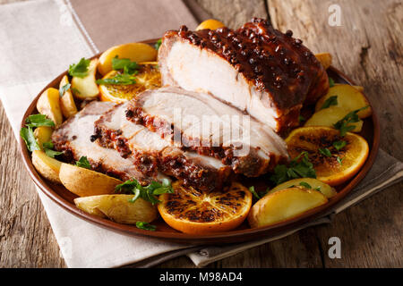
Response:
M177 29L181 24L193 29L197 21L191 11L198 13L198 21L206 18L191 0L186 0L186 4L181 0L39 0L0 5L0 98L15 136L19 136L21 116L33 97L70 63L109 46L159 38L165 30ZM321 219L276 237L205 248L107 231L69 214L39 189L38 192L69 267L134 263L147 267L185 254L195 265L202 266L304 227L329 223L331 214L388 187L402 176L403 164L381 150L364 181Z

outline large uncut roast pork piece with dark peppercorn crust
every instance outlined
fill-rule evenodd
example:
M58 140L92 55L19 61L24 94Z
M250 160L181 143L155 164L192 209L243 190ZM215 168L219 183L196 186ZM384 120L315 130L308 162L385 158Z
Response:
M329 89L326 71L302 41L262 19L236 30L167 31L159 68L164 85L210 93L277 132L296 126L303 103Z

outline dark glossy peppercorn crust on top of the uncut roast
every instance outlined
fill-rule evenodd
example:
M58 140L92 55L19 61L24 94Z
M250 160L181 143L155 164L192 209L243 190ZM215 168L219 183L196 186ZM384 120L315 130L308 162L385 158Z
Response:
M179 37L223 57L245 79L267 92L267 106L287 114L306 100L313 103L329 89L326 71L303 41L281 33L266 20L253 18L240 29L190 31L185 26L167 31L163 41ZM296 115L297 117L297 115ZM295 116L284 120L295 120Z

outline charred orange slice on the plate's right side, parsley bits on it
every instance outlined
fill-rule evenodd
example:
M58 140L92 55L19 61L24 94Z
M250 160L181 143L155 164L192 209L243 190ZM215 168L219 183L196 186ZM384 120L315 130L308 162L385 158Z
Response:
M334 142L341 141L347 145L338 150ZM369 153L368 143L361 136L347 132L345 137L340 137L339 130L329 127L298 128L289 134L286 143L291 158L307 152L317 179L330 186L351 179L361 169ZM330 151L327 156L327 152L323 152L326 149Z

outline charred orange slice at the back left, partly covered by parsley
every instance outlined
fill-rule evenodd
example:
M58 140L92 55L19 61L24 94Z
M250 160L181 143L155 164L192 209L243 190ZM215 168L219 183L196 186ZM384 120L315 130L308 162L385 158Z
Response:
M120 71L109 71L103 79L113 78ZM134 75L135 84L129 85L99 85L99 97L101 101L113 101L121 103L132 99L146 89L161 87L161 74L157 62L141 63L140 69Z

